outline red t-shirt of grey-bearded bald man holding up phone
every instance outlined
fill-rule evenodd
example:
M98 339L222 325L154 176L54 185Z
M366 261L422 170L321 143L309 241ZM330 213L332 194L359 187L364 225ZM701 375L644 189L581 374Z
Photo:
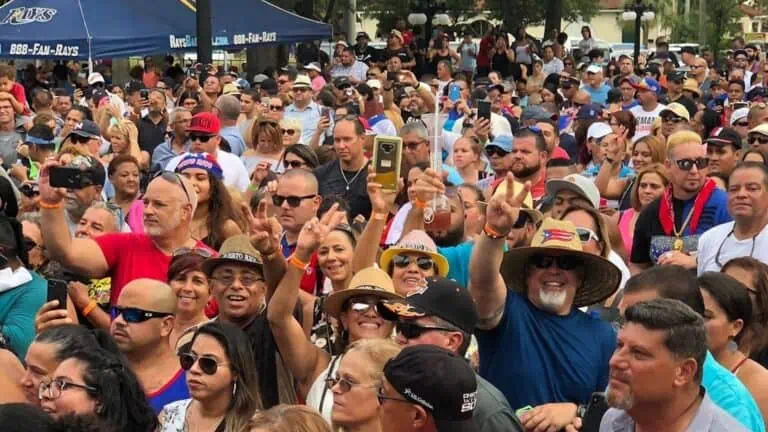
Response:
M93 240L99 245L109 266L111 304L117 302L123 287L133 280L146 278L168 282L168 267L173 257L158 249L148 235L113 233ZM213 251L200 241L195 247Z

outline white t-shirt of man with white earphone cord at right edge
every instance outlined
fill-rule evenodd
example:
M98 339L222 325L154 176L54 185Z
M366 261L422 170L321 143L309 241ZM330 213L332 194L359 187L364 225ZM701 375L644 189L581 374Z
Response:
M751 256L768 264L768 226L764 227L755 238L738 240L732 233L735 222L726 222L714 226L699 237L696 254L696 273L719 272L728 261ZM717 251L720 250L718 259ZM720 264L717 262L720 261Z

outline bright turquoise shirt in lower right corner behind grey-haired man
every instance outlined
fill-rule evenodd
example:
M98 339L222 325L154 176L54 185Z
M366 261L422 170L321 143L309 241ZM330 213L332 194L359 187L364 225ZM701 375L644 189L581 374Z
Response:
M701 385L715 405L752 432L765 432L765 423L757 403L741 380L724 368L707 351Z

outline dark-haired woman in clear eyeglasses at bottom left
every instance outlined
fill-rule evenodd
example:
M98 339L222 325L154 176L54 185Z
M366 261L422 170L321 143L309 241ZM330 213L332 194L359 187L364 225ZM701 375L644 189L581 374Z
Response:
M155 431L157 418L139 379L102 335L99 343L70 353L52 379L40 383L40 406L54 417L93 415L111 430Z

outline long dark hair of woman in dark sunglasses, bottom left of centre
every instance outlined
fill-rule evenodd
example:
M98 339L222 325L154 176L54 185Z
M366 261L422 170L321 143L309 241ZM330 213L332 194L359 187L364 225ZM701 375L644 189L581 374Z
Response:
M216 339L224 348L229 367L235 376L235 390L229 402L229 409L224 416L225 430L239 432L245 430L251 417L263 409L259 392L259 377L254 368L253 351L245 333L232 324L213 321L200 326L189 346L195 344L200 335Z

